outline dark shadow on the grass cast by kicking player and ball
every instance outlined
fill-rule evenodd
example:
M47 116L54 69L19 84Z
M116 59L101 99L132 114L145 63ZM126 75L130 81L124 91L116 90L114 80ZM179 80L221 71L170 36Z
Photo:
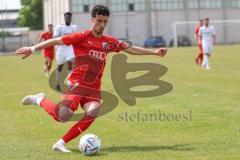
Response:
M80 153L77 149L71 149L75 153ZM101 148L100 153L97 156L106 156L107 153L113 152L149 152L149 151L161 151L161 150L170 150L170 151L193 151L195 148L191 147L188 144L177 144L170 146L110 146Z

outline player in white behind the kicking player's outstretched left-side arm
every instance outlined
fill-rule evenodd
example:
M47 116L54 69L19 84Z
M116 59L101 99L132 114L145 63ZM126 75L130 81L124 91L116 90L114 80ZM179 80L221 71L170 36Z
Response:
M63 35L71 34L77 31L77 26L71 24L72 21L72 13L66 12L64 13L64 21L65 24L57 25L53 37L61 37ZM72 70L72 61L74 58L73 48L72 46L67 45L58 45L57 53L56 53L56 61L57 61L57 72L56 72L56 89L58 91L61 90L60 88L60 77L63 68L63 64L67 62L68 65L68 73Z

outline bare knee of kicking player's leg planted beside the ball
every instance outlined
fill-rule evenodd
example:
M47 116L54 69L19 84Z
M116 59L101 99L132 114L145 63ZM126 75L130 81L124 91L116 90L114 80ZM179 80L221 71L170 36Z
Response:
M96 118L99 114L99 103L92 101L84 104L85 114Z

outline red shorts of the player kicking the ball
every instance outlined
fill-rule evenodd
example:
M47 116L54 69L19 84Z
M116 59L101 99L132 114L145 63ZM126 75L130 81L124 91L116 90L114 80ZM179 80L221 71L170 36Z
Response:
M74 112L87 102L96 101L100 103L100 89L93 89L85 86L73 85L62 97L60 106L67 106Z

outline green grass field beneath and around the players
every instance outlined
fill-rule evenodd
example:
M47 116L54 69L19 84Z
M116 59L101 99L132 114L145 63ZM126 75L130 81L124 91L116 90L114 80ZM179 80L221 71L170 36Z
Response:
M160 63L168 68L161 77L174 89L159 97L139 98L134 107L121 99L116 109L101 116L87 130L101 138L99 155L85 157L78 150L79 138L67 147L70 154L54 153L53 143L72 125L54 122L43 109L23 107L20 100L44 91L54 101L60 94L49 88L40 55L21 60L0 57L0 160L78 160L78 159L240 159L240 46L217 46L211 70L194 64L197 48L169 49L164 58L129 56L129 62ZM115 94L109 57L103 90ZM125 113L181 114L188 119L126 121ZM191 115L190 115L191 112ZM191 119L190 119L191 116Z

